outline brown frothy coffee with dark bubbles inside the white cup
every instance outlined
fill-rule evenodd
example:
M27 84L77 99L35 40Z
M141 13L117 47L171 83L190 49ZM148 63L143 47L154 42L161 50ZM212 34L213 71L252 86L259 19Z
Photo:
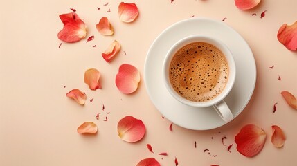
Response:
M183 98L206 102L219 95L228 81L228 62L212 44L194 42L174 54L169 69L170 82Z

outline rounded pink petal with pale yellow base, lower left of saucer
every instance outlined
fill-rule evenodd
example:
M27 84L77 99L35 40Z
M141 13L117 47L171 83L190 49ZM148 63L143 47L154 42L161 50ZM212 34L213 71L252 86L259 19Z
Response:
M126 142L137 142L145 135L145 124L132 116L125 116L118 122L118 136Z

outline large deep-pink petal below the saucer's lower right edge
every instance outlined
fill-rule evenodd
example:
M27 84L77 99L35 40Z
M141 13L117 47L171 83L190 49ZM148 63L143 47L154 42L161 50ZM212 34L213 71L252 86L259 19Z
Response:
M247 124L235 136L237 151L246 157L253 157L260 153L266 140L266 133L255 126Z

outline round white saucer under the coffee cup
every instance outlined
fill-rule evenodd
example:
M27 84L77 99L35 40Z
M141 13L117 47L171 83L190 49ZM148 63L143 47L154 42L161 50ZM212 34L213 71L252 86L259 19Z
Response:
M248 104L255 88L256 66L249 45L233 28L222 21L206 18L190 18L165 29L152 43L145 59L144 81L147 93L165 118L181 127L207 130L226 124L213 107L189 107L175 100L162 79L163 59L170 47L188 35L209 35L221 39L233 53L236 64L236 80L231 93L225 98L234 118Z

